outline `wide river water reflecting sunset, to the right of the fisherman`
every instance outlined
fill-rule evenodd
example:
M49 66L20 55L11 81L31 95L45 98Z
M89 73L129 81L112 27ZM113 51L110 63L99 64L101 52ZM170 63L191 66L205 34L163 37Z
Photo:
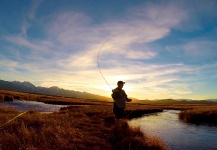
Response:
M217 127L183 123L178 119L179 112L164 110L133 119L129 124L160 138L170 150L217 150Z

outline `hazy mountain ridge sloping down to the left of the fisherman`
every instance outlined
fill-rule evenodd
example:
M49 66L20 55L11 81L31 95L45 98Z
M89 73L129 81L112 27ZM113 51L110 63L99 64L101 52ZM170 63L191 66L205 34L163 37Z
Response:
M19 92L28 92L28 93L37 93L45 95L56 95L64 97L76 97L76 98L85 98L85 99L101 99L101 100L111 100L109 97L95 95L87 92L79 92L74 90L65 90L57 86L52 86L49 88L35 86L30 82L24 81L4 81L0 80L0 89L4 90L13 90Z

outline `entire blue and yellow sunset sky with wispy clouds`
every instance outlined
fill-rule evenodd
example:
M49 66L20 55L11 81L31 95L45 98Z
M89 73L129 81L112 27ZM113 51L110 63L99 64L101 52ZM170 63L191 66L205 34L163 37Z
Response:
M0 79L216 99L216 12L216 0L0 0Z

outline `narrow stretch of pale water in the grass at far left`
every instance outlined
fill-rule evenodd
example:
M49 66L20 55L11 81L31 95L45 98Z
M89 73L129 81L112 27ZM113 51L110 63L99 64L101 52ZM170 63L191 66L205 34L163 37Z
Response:
M26 110L37 110L40 112L53 112L58 111L61 107L66 107L67 105L53 105L45 104L37 101L25 101L25 100L14 100L14 101L5 101L0 102L1 106L12 107L18 111Z

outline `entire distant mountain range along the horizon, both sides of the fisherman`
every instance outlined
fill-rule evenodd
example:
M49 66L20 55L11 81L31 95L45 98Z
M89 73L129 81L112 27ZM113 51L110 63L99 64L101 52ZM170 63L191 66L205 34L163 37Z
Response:
M80 92L74 90L66 90L59 88L57 86L52 87L42 87L35 86L30 82L24 81L4 81L0 80L0 89L12 90L27 93L45 94L45 95L55 95L64 97L75 97L75 98L85 98L85 99L98 99L98 100L112 100L109 97L95 95L87 92ZM142 100L138 101L133 98L134 102L138 103L217 103L217 99L207 99L207 100L192 100L192 99L160 99L160 100Z

